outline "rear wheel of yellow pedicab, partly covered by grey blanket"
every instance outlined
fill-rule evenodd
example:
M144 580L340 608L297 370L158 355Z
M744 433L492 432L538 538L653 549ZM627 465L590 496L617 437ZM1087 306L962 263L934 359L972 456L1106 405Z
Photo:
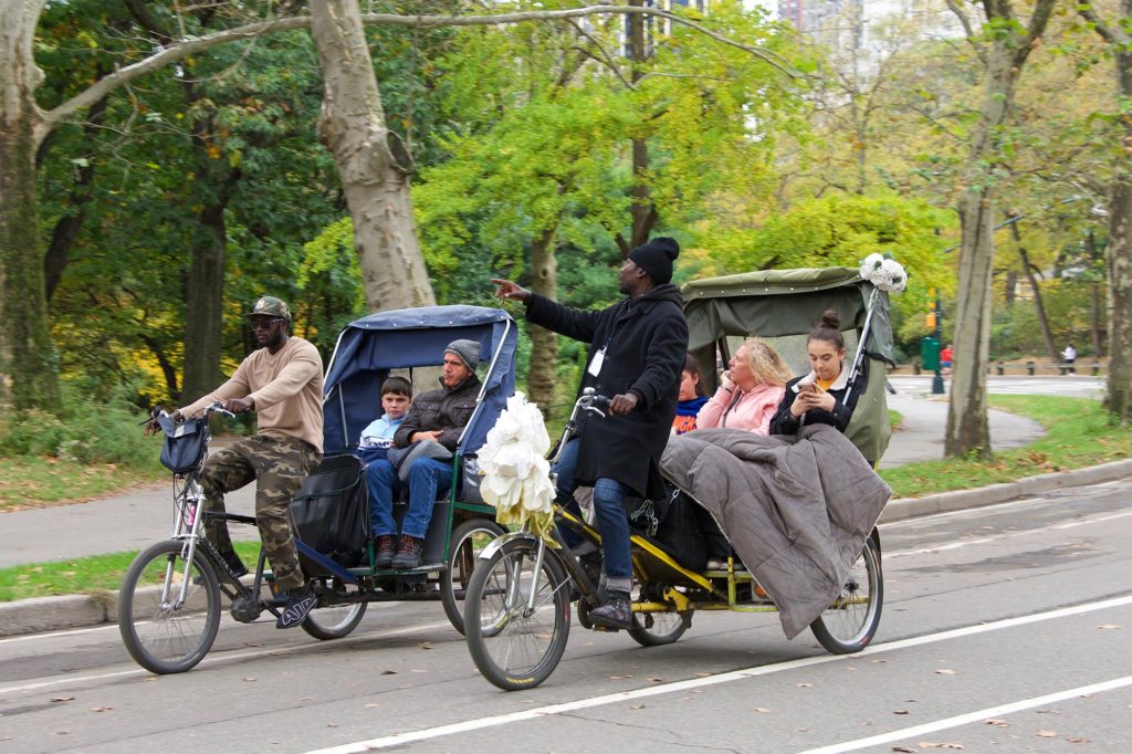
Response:
M849 567L841 594L812 624L809 629L826 651L833 654L859 652L873 641L881 624L884 579L881 554L873 539Z

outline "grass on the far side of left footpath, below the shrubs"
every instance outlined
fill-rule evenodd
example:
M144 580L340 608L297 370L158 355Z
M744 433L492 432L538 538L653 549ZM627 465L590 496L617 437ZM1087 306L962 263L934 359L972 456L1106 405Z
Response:
M52 457L8 457L0 462L0 512L88 500L168 475L156 463L137 468L118 463L85 465Z

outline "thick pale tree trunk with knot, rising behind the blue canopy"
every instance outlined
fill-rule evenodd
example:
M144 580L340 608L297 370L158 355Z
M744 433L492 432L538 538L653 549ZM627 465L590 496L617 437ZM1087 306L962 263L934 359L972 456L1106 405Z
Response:
M371 311L432 306L409 192L412 157L386 126L358 0L312 0L310 22L324 84L318 136L338 166L366 302Z

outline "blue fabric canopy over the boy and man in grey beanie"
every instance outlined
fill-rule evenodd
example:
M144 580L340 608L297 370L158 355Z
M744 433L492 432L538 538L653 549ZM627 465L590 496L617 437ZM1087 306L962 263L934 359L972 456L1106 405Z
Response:
M518 329L503 309L447 306L381 311L342 331L323 386L326 452L355 445L361 430L381 415L380 387L391 369L438 367L445 346L460 339L477 341L482 354L483 385L460 439L461 453L478 451L515 392Z

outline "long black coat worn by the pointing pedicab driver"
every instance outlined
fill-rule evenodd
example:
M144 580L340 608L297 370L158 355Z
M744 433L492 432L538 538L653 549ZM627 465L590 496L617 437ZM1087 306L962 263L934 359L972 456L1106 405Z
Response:
M660 455L672 431L680 372L688 350L688 323L675 285L657 285L636 299L601 311L580 311L533 294L526 318L556 333L590 343L578 393L593 387L612 397L633 392L637 408L624 417L591 415L582 425L575 481L615 479L640 496L664 494ZM589 366L604 349L600 374Z

